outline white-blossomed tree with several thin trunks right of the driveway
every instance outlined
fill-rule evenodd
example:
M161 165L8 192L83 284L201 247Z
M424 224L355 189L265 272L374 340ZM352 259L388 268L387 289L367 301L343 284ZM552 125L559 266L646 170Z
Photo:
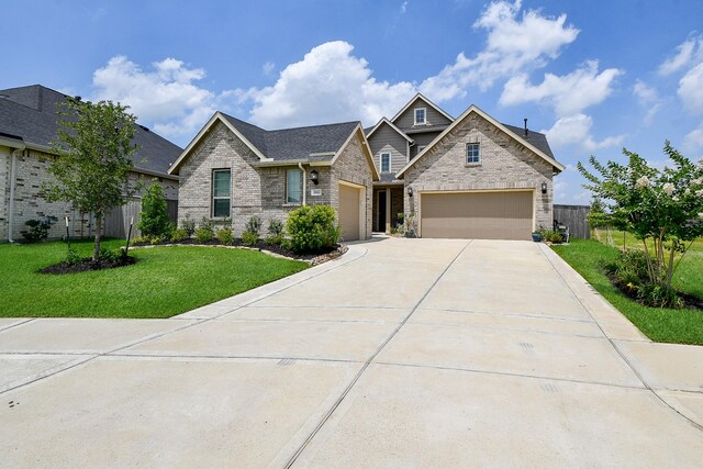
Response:
M668 141L663 153L673 161L672 168L652 168L624 148L627 165L602 165L591 156L589 163L600 177L581 163L578 168L589 181L583 187L603 201L613 225L641 239L650 282L671 289L673 272L690 243L703 236L703 159L694 165ZM681 254L678 260L677 253Z

